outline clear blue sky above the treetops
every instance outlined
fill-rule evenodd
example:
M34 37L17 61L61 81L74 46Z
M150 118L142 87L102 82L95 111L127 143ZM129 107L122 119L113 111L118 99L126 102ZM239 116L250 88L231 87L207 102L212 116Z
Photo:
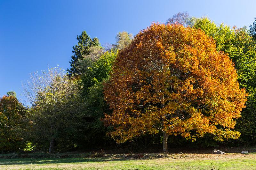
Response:
M114 43L116 33L136 35L153 21L165 22L179 11L208 16L216 23L250 26L255 0L0 0L0 96L14 90L31 72L57 64L67 69L83 30L101 44Z

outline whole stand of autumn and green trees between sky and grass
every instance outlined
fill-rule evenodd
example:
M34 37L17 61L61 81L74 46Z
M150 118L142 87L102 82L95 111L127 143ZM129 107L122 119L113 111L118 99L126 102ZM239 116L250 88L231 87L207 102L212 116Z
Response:
M256 18L249 28L179 12L103 47L74 37L49 67L0 97L0 151L256 145Z

